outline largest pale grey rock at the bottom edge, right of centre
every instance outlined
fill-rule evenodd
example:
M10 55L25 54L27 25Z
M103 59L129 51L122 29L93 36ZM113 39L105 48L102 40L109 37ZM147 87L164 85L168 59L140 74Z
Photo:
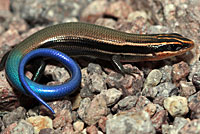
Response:
M119 114L106 121L106 134L155 134L149 114L145 111Z

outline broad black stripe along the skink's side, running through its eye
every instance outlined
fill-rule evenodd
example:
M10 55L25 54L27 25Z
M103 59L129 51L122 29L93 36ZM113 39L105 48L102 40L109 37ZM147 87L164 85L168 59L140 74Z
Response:
M59 40L59 42L47 42L43 44L41 47L52 47L54 48L59 47L66 47L69 48L71 51L74 48L74 51L77 53L80 51L106 51L111 53L136 53L136 54L149 54L149 53L156 53L156 52L163 52L163 51L178 51L183 47L187 47L184 45L180 45L180 43L173 42L172 44L161 44L161 45L149 45L149 46L131 46L131 45L113 45L105 42L98 42L96 40L89 40L80 38L78 40L74 39L66 39L66 40ZM80 50L77 50L77 47ZM82 50L81 50L82 49Z

